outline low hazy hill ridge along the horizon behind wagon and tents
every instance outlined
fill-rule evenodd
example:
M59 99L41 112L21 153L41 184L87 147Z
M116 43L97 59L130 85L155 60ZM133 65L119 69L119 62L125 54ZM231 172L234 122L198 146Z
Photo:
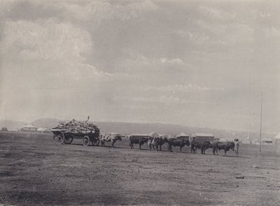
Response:
M55 128L59 121L58 118L40 118L36 121L32 121L36 128ZM193 133L211 133L217 138L223 139L258 139L258 132L241 132L234 130L216 130L212 128L192 128L183 125L173 125L164 123L116 123L116 122L92 122L98 126L102 133L107 132L118 132L120 134L130 134L130 133L150 133L158 132L159 134L167 135L178 135L181 132L186 134ZM16 121L0 121L1 127L6 127L8 130L17 130L21 128L25 123ZM274 135L262 134L262 137L273 138Z

